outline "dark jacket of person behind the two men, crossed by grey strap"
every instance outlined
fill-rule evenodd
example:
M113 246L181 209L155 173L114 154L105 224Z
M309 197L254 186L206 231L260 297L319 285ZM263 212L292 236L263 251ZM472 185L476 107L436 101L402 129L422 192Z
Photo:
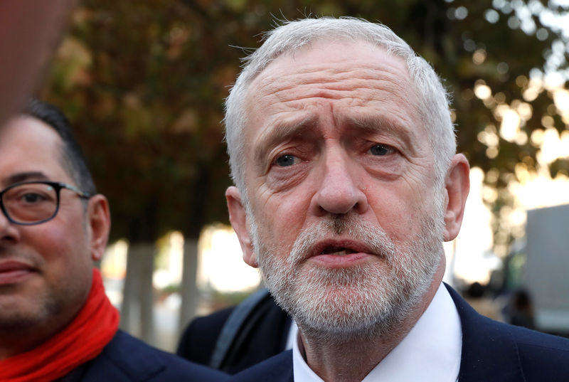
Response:
M189 361L210 365L218 336L233 309L194 319L184 330L176 353ZM268 293L265 294L256 305L255 312L249 314L239 328L220 370L238 373L279 354L285 349L290 323L286 312Z

